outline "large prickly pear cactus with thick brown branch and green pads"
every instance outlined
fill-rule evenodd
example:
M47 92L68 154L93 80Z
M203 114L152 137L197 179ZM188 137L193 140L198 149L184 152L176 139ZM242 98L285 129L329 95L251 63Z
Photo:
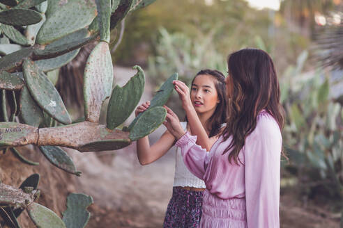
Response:
M112 92L113 66L109 34L129 11L153 2L134 0L0 0L0 148L9 148L20 161L15 147L36 145L56 167L79 176L73 160L59 146L98 152L127 147L146 136L165 120L165 104L173 90L171 81L152 106L132 125L132 131L116 129L137 106L144 90L144 72ZM37 10L34 10L37 9ZM19 26L24 26L20 28ZM24 34L23 34L24 29ZM70 62L79 48L100 40L91 52L84 72L85 120L71 124L66 106L54 88L59 67ZM107 108L107 125L99 124L102 102L112 92ZM16 94L20 93L17 100ZM10 115L8 115L10 113ZM20 118L15 118L20 113ZM10 121L10 122L8 122ZM17 122L14 122L17 121ZM57 123L57 122L59 123ZM24 124L23 124L23 123ZM66 124L63 126L63 124ZM86 207L93 199L73 194L67 199L63 220L34 202L39 196L38 175L26 179L19 189L0 184L0 215L6 225L20 227L16 218L26 209L37 227L84 227L89 220ZM12 221L12 222L11 222Z

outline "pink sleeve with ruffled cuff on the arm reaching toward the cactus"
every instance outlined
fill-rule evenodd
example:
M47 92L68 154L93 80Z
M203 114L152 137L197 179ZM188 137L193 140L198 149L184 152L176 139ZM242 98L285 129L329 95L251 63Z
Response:
M188 170L199 179L204 179L206 149L197 145L197 136L191 136L188 131L176 142L177 147L181 147L183 162Z

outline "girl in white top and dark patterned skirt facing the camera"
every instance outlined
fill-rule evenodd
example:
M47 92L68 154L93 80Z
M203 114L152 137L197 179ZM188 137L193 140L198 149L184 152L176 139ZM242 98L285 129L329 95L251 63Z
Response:
M225 92L225 77L217 70L201 70L192 81L191 92L187 89L178 93L186 111L186 122L181 123L183 131L196 132L201 126L201 145L209 151L218 139L221 125L227 115L227 99ZM181 83L178 81L178 83ZM143 112L150 105L149 101L138 106L135 114ZM167 107L165 107L167 108ZM169 110L169 108L167 108ZM197 115L187 122L188 115ZM193 121L193 122L191 122ZM199 127L198 127L199 128ZM148 137L137 140L137 156L139 163L147 165L156 161L174 145L176 138L165 131L160 139L149 145ZM176 149L176 165L172 199L167 207L163 227L198 227L201 218L202 193L204 181L195 177L183 163L179 149Z

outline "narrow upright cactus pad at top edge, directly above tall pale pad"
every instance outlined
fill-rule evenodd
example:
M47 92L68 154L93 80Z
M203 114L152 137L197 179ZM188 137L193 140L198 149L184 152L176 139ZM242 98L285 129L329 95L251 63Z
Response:
M111 17L111 0L96 0L99 15L100 40L109 42L109 19Z

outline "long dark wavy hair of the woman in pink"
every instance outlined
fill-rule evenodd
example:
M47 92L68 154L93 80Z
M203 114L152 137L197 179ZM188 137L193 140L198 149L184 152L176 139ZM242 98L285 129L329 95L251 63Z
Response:
M229 117L223 136L224 140L232 136L232 140L224 153L232 149L229 162L234 159L238 164L238 154L245 145L245 139L256 127L257 115L266 110L281 130L284 112L274 63L265 51L241 49L229 55L227 65L231 90L228 91Z

